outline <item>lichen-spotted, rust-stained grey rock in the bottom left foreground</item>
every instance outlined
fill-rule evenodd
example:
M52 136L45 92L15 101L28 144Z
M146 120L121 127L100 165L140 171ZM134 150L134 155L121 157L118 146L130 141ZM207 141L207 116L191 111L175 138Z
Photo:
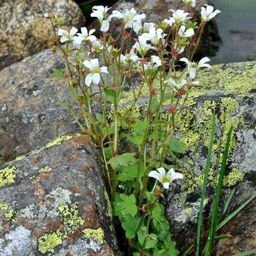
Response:
M117 255L98 151L74 134L0 170L0 255Z

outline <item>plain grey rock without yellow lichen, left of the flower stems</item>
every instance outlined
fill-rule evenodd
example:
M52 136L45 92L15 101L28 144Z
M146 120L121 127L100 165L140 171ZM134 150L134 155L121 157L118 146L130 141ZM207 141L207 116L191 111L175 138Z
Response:
M78 127L66 106L69 87L53 68L64 69L58 54L45 50L0 72L0 153L11 160Z

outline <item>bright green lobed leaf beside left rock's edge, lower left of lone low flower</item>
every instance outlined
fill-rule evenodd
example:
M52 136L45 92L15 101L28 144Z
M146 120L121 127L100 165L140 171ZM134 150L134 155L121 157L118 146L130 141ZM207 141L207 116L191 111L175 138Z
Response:
M119 196L120 202L116 203L117 212L120 212L123 217L126 214L130 214L133 217L136 216L138 209L135 196L133 194L130 196L127 196L125 194L119 194ZM118 208L120 209L120 211Z

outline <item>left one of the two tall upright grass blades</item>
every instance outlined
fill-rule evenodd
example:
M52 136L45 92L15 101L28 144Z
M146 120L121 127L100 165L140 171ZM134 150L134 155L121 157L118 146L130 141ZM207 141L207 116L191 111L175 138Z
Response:
M210 164L211 164L211 154L213 151L213 140L214 140L214 134L215 134L215 126L216 126L216 116L214 114L213 120L211 123L211 137L210 137L210 144L209 144L208 154L207 154L207 162L206 162L206 166L204 169L204 183L202 186L201 202L200 202L200 208L199 208L199 214L198 214L198 226L197 226L197 232L196 232L196 256L199 256L199 253L200 253L202 212L204 210L205 192L206 192L206 187L207 187L207 182L208 182L208 173L209 173Z

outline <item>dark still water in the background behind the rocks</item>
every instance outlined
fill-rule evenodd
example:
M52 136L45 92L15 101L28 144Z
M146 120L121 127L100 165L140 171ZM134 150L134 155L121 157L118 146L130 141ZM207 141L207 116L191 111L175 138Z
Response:
M76 0L87 17L93 5L111 6L116 0ZM211 0L222 11L214 18L220 41L210 42L211 64L256 60L256 0Z

